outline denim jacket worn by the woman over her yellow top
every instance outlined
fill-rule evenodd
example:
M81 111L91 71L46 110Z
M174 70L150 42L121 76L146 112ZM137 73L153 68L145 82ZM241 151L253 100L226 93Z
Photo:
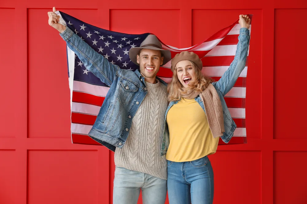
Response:
M240 73L245 67L246 57L248 52L248 45L250 41L250 34L247 28L240 29L239 35L239 42L237 44L237 50L235 53L235 58L232 61L230 67L227 71L223 74L223 76L217 82L213 82L212 85L215 87L218 95L220 96L222 107L223 107L223 118L224 118L224 128L225 132L223 136L221 136L222 140L225 143L228 143L229 140L232 138L235 128L237 127L235 122L232 120L229 110L227 108L226 102L224 100L224 96L230 91L230 89L235 85ZM205 111L204 103L200 99L199 96L195 98L198 104L202 107ZM162 140L162 147L161 147L161 155L166 154L166 151L169 147L169 131L166 123L166 115L169 109L174 105L177 104L179 101L172 101L169 103L168 108L166 109L165 113L165 122L164 122L164 132L163 132L163 140ZM206 112L206 111L205 111Z

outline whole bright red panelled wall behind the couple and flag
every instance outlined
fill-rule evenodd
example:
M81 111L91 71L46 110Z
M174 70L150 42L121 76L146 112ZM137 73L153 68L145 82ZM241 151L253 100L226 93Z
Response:
M305 0L1 0L0 204L112 203L113 153L71 144L66 47L48 25L52 6L101 28L152 32L177 47L254 14L248 144L210 156L214 203L307 203Z

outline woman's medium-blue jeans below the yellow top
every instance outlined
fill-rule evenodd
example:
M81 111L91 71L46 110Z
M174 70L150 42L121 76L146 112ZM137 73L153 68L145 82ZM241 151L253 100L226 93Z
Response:
M167 190L169 204L212 204L213 169L208 157L167 161Z

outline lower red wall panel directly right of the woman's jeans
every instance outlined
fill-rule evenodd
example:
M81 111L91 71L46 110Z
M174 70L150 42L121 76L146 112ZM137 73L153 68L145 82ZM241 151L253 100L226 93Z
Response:
M213 203L261 202L260 151L217 151L209 159L214 172Z

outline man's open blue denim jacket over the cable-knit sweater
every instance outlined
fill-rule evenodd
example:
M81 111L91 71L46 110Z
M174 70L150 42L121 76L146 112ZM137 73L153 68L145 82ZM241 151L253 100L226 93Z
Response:
M88 136L112 151L116 147L122 148L126 143L132 118L147 94L144 77L138 70L133 72L113 65L68 27L60 36L86 69L110 86ZM158 77L157 79L167 85Z

